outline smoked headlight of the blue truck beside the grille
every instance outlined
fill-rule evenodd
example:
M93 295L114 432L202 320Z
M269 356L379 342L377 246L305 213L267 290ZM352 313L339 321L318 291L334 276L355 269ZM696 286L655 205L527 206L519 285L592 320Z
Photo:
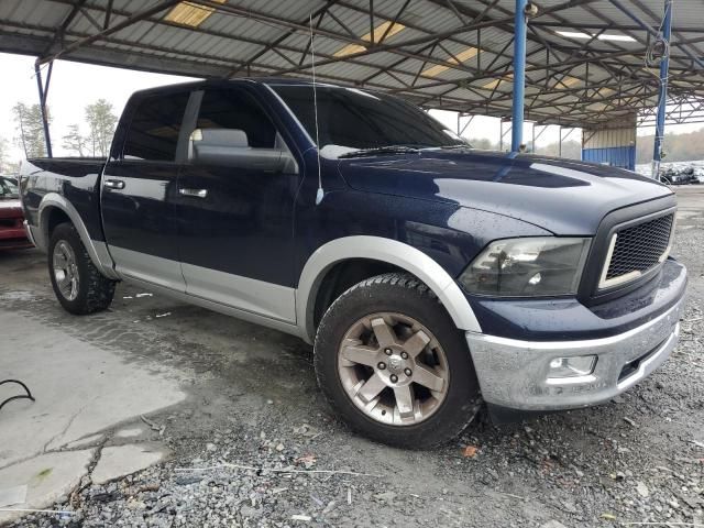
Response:
M536 237L497 240L460 276L472 294L541 296L575 294L591 239Z

